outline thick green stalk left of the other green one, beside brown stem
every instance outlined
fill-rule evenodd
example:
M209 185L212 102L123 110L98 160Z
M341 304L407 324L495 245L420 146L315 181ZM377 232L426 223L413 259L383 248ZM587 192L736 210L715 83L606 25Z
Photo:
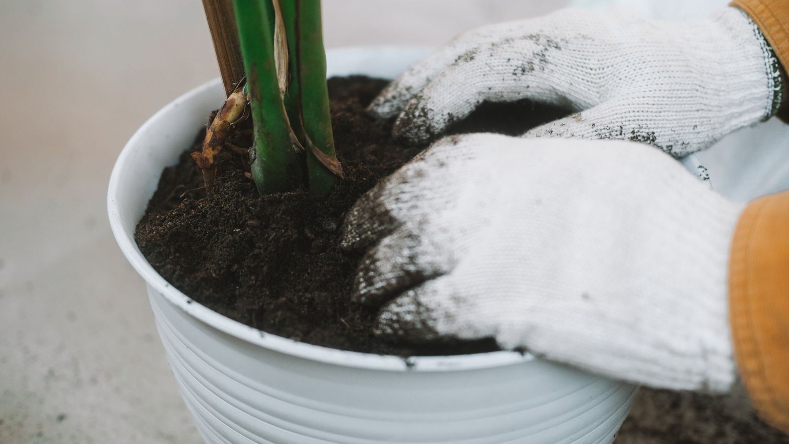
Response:
M256 159L252 179L260 194L294 190L301 168L279 95L270 17L271 0L234 0L241 55L249 87Z

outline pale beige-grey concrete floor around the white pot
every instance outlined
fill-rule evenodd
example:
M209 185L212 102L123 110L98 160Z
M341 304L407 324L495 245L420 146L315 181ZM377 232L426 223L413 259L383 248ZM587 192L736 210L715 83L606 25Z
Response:
M439 44L563 3L327 0L326 41ZM200 2L0 3L0 443L200 442L105 193L128 137L217 76L213 57ZM687 415L660 399L620 442L671 442L649 415Z

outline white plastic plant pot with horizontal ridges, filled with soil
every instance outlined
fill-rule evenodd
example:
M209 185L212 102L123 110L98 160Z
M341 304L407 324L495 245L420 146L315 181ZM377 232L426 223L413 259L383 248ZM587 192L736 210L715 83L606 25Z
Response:
M329 75L394 77L424 48L328 53ZM164 167L224 99L219 80L140 127L110 179L114 235L148 284L156 325L206 442L611 442L634 386L515 352L402 359L290 341L203 307L159 276L134 228Z

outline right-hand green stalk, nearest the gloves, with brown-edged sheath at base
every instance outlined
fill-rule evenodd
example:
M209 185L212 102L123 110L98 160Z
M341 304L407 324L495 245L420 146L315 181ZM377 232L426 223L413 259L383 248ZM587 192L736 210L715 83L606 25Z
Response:
M342 167L335 155L334 134L331 132L320 0L294 0L294 4L297 13L297 77L309 191L327 194L342 177Z

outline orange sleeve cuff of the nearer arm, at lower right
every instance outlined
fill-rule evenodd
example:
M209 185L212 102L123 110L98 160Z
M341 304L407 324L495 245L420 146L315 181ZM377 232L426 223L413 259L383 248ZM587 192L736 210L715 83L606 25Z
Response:
M789 433L789 191L746 206L729 263L729 321L753 405Z

